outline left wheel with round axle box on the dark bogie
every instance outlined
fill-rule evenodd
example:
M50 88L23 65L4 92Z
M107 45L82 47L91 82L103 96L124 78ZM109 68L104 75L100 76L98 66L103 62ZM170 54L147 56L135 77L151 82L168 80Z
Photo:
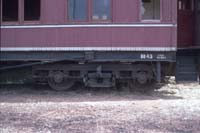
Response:
M74 81L64 78L64 74L60 71L53 72L48 78L49 86L57 91L64 91L70 89L74 85Z

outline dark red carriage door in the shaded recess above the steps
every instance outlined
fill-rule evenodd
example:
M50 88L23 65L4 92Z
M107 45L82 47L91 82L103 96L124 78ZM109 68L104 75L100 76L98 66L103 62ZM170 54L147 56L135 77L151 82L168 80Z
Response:
M194 44L194 0L178 0L178 47Z

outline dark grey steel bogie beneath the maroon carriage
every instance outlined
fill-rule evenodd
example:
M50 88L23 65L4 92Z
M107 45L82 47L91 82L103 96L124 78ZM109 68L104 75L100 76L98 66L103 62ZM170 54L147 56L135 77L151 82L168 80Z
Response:
M154 80L154 64L66 64L42 65L33 68L37 79L47 79L55 90L67 90L76 81L82 81L86 87L115 87L117 81L137 81L145 85ZM48 74L47 74L48 71ZM42 75L38 73L44 73ZM40 77L42 75L42 77Z

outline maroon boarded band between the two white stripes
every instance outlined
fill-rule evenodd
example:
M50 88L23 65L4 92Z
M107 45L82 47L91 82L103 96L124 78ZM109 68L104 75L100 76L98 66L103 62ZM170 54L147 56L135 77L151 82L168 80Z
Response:
M27 44L30 47L176 47L176 43L172 41L172 29L169 27L2 29L1 47L27 47Z

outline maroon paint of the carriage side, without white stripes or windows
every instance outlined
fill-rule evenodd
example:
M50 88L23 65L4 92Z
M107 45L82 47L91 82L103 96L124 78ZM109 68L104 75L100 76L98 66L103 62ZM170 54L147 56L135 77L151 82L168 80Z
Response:
M40 22L25 23L20 17L20 23L12 25L77 24L67 20L66 0L41 2ZM1 47L176 47L176 12L176 0L161 0L161 20L144 22L140 16L140 0L113 0L112 20L95 24L142 23L174 26L1 28ZM90 17L88 21L78 24L94 24Z

